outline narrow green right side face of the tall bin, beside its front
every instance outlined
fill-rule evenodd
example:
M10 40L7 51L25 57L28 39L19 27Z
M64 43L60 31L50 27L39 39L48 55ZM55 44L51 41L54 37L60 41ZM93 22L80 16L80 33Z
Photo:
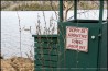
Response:
M107 25L108 22L102 23L101 37L99 37L99 56L98 56L98 71L108 71L108 45L107 45Z

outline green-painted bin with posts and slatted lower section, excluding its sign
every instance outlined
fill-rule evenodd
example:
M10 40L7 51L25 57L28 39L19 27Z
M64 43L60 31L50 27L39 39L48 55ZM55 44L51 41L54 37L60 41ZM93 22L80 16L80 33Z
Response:
M58 34L33 35L35 71L107 71L108 23L102 21L102 10L100 0L99 20L77 20L77 0L74 0L74 20L63 22L63 0L60 0ZM66 26L88 28L88 52L66 49Z

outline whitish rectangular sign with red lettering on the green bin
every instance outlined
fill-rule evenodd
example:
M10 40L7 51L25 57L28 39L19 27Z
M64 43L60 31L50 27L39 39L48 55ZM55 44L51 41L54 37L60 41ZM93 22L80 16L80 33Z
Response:
M66 49L88 51L88 28L66 26Z

